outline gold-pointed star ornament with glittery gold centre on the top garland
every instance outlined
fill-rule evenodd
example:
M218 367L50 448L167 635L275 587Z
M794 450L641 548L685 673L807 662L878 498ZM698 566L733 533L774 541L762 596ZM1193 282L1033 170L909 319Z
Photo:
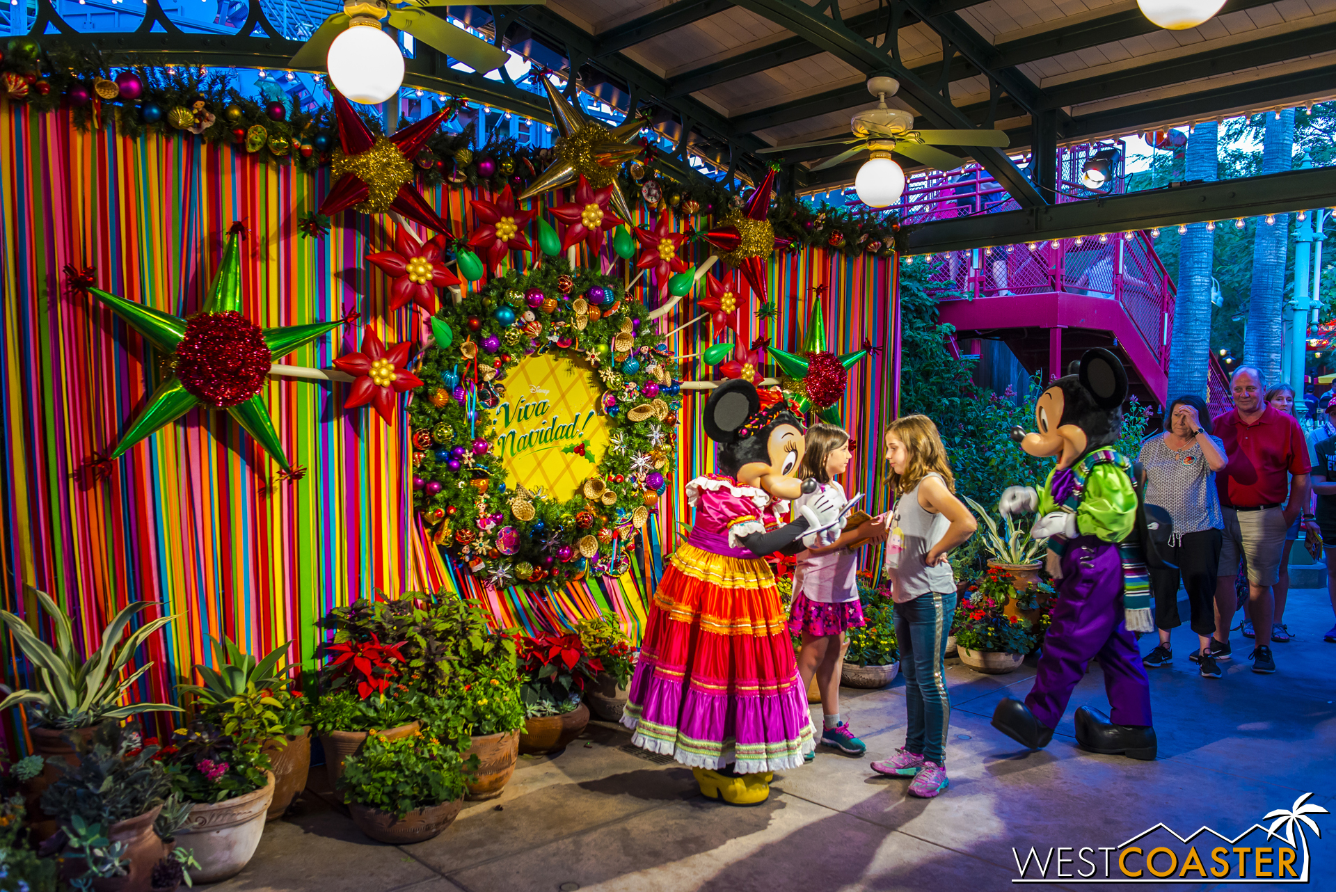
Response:
M609 130L585 115L578 104L568 101L545 75L540 76L538 81L548 93L548 104L552 105L552 116L561 136L553 146L556 160L520 194L520 199L562 188L584 178L597 191L608 188L613 211L621 219L629 220L631 206L617 186L617 171L623 163L643 151L640 146L628 140L640 132L644 122L633 118Z

